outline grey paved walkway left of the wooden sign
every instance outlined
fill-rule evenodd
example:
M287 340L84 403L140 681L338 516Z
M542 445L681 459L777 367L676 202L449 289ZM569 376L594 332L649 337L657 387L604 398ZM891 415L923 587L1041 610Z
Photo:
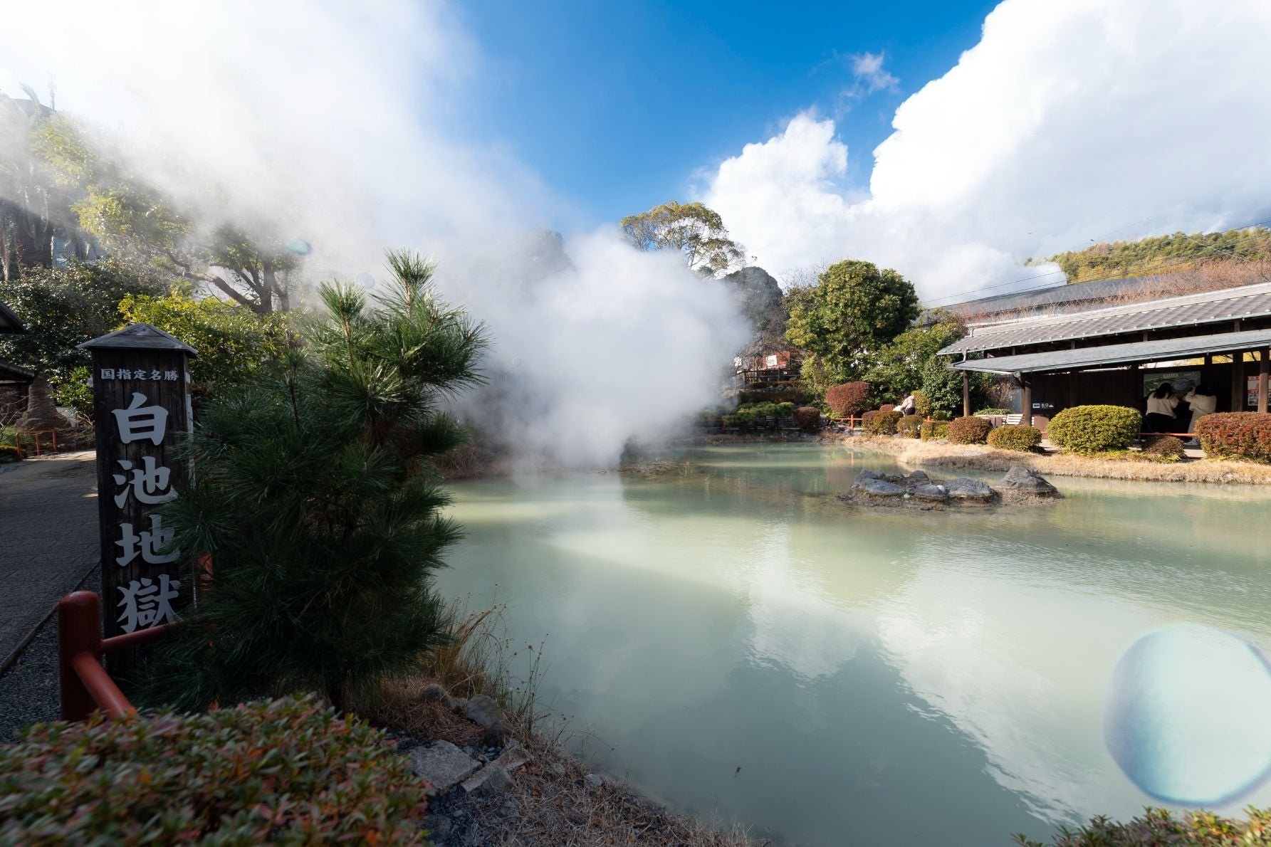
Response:
M97 564L93 451L0 471L0 669Z

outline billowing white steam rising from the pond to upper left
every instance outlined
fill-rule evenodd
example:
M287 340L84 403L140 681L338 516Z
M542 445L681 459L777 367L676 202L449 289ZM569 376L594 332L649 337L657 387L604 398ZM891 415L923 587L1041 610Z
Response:
M52 77L60 110L109 128L183 203L310 241L313 276L383 278L384 246L435 255L442 293L494 339L497 390L469 408L513 446L611 464L709 404L745 342L722 286L613 232L573 240L550 273L519 264L526 232L571 211L447 130L482 57L441 3L24 4L0 44L5 93Z

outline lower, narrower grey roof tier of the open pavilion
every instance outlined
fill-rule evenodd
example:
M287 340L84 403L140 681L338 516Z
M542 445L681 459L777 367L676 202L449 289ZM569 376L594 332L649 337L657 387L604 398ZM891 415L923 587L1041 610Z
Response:
M1191 338L1163 338L1154 342L1079 347L1075 350L994 356L985 359L955 362L951 367L957 371L981 371L985 373L1079 371L1101 364L1169 362L1205 353L1249 350L1268 344L1271 344L1271 329L1256 329L1247 333L1216 333L1214 335L1192 335Z

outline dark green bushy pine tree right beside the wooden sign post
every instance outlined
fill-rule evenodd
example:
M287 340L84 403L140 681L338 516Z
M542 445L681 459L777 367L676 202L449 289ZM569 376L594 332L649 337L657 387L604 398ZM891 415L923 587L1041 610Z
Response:
M480 381L484 330L438 302L433 265L389 253L371 307L324 284L282 372L205 405L194 485L165 508L198 606L158 657L146 701L184 709L306 688L344 706L445 643L431 574L459 528L431 460L465 432L438 401ZM206 557L206 559L203 559Z

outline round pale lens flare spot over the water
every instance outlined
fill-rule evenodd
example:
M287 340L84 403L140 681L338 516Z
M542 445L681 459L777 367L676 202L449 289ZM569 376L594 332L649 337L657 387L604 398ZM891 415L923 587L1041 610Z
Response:
M1144 635L1112 672L1103 737L1158 800L1223 805L1271 771L1271 665L1252 644L1179 624Z

